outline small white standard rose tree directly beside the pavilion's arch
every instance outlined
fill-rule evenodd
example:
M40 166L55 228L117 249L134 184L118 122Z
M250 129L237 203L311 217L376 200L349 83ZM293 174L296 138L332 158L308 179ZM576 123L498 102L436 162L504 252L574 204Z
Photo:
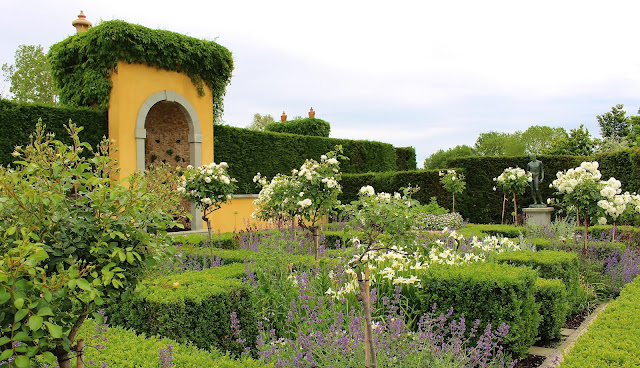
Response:
M209 241L212 240L209 215L228 202L237 188L236 179L229 176L227 169L226 162L212 162L198 168L189 165L181 173L178 193L202 210L202 220L207 224Z

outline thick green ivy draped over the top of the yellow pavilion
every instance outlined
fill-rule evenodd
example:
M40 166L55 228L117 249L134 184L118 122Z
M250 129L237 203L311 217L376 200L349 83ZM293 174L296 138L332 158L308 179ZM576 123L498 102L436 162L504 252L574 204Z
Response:
M120 20L102 22L58 42L51 46L48 57L64 104L106 108L110 76L123 61L185 73L201 95L203 84L207 85L212 91L214 118L222 115L222 100L233 71L231 53L213 41Z

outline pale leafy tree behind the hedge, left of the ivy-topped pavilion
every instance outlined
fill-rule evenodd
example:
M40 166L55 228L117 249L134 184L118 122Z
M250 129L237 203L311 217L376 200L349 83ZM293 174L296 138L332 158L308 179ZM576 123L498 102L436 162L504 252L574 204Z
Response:
M11 83L9 92L19 102L56 103L56 90L47 56L40 45L20 45L15 64L2 65L5 80Z

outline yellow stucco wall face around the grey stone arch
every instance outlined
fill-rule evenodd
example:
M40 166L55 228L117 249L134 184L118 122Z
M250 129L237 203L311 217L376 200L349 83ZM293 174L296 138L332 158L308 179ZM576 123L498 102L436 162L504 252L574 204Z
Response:
M113 88L109 97L109 139L115 141L115 158L120 166L119 178L136 171L136 119L143 103L157 92L170 90L186 98L195 109L202 130L202 163L213 161L213 101L211 89L204 86L199 96L191 79L177 72L146 64L120 61L111 75Z

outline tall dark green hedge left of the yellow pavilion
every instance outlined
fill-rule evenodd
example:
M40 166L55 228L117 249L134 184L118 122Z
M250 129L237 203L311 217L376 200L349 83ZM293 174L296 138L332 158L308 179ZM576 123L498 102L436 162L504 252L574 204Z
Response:
M11 153L16 146L29 143L29 135L40 119L48 131L67 145L73 143L65 128L70 120L85 127L79 133L80 140L91 147L97 147L109 133L106 110L17 103L0 99L0 165L7 166L14 160Z

